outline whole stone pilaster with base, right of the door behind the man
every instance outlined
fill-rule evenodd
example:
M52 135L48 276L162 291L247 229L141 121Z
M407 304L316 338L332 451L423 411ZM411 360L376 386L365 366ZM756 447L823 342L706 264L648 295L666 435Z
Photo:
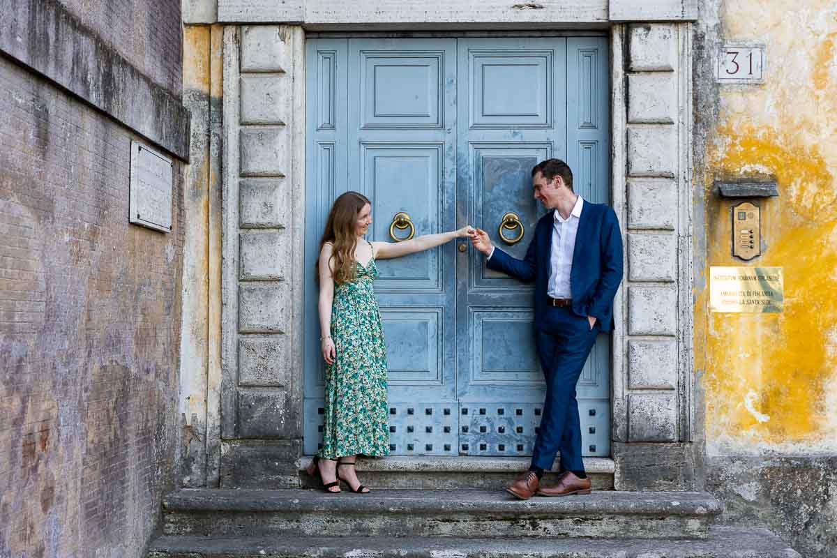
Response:
M614 404L624 413L614 428L617 488L689 489L694 477L691 458L682 459L688 448L678 445L693 433L689 29L630 24L616 38L624 72L614 84L622 119L614 124L625 136L615 141L624 142L624 160L614 187L624 192L626 252L625 331L616 341L624 361L623 398ZM643 461L669 463L672 474L646 477Z

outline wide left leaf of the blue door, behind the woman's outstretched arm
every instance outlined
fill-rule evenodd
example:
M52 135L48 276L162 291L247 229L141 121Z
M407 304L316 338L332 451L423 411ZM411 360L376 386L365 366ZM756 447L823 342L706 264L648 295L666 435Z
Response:
M455 228L456 152L449 134L456 129L455 47L452 38L348 40L347 174L372 201L373 242L392 241L398 212L408 213L417 236ZM398 238L408 231L393 229ZM456 449L455 442L444 449L436 438L444 425L415 407L426 412L448 402L450 412L455 400L454 316L447 311L456 304L454 250L449 244L376 263L390 363L390 425L406 437L390 440L394 454ZM423 435L428 442L420 443Z

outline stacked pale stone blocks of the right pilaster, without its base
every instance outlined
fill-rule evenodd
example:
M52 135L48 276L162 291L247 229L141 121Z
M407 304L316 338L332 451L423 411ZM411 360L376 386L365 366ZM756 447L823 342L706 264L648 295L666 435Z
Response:
M680 64L680 28L673 24L628 28L627 78L627 293L628 293L628 439L631 442L677 442L681 422L677 390L679 361L689 348L678 347L683 327L678 306L680 239L689 235L683 223L681 181L681 115L678 84L691 79ZM684 188L686 189L686 188ZM687 191L687 189L686 189ZM634 220L634 217L637 219ZM685 260L685 261L684 261ZM685 291L688 293L688 289ZM662 356L662 358L660 358Z

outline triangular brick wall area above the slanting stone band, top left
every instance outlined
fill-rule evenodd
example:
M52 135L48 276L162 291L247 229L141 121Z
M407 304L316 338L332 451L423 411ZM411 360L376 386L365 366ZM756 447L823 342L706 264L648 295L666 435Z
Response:
M59 0L59 3L142 74L172 95L181 95L181 0Z

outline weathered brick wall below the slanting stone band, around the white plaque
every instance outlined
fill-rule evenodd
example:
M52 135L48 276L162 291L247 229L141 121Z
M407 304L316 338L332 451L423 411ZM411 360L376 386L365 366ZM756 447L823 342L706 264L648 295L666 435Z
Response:
M139 556L172 486L182 167L129 225L131 139L0 55L3 558Z

